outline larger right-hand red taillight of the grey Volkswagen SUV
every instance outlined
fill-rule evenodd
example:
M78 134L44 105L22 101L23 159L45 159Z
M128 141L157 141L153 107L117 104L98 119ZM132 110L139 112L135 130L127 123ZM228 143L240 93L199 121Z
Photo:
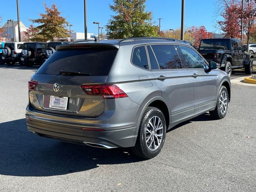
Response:
M127 94L115 84L112 85L82 85L88 95L101 95L104 99L128 97Z

